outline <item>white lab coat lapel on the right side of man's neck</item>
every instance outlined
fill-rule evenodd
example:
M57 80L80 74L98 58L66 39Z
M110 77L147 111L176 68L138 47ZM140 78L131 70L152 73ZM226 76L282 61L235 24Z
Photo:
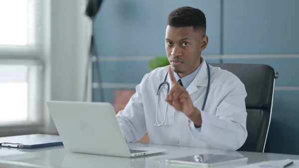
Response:
M187 87L187 92L189 95L196 92L198 90L198 86L207 87L208 84L208 71L207 71L207 64L205 60L203 59L203 62L201 63L201 67L193 79L193 81L190 83L190 85Z

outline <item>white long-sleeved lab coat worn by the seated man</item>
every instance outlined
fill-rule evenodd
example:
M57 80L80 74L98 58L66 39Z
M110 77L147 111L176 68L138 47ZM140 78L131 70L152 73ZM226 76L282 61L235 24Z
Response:
M169 104L166 125L156 127L156 94L167 70L165 66L146 74L125 109L117 114L118 123L127 142L137 142L148 133L152 144L234 151L239 149L247 138L247 93L240 79L231 72L210 66L210 91L202 111L208 82L207 65L203 59L198 74L186 88L194 106L201 112L201 131L196 130L191 120L182 112L175 111ZM169 75L167 82L171 89ZM161 124L167 103L165 88L159 96L158 123Z

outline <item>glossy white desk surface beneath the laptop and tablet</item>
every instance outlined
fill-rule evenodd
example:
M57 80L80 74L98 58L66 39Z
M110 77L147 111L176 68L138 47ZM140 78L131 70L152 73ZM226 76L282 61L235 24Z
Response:
M30 136L20 137L30 138ZM7 140L7 138L0 138L0 141L2 141L3 139ZM297 155L222 151L140 143L130 144L130 146L166 148L167 152L164 154L129 159L68 153L63 146L33 150L7 149L2 147L0 148L0 168L183 168L179 166L169 166L167 164L165 165L164 160L167 158L176 158L206 153L248 157L247 164L269 160L299 160L299 156Z

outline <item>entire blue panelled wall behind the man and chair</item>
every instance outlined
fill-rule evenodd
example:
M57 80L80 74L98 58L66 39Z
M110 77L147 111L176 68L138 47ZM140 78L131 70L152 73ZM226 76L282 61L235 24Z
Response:
M99 88L93 100L113 103L115 89L134 89L149 72L149 56L165 55L167 14L187 5L206 14L208 62L265 63L279 72L266 150L299 155L299 0L106 0L94 22L106 85L104 100Z

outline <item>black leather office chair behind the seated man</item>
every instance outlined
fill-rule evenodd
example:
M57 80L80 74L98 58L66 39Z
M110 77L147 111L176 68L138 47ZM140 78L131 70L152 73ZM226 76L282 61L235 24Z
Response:
M245 85L248 137L239 151L264 152L278 73L271 66L264 64L211 63L210 65L232 72Z

